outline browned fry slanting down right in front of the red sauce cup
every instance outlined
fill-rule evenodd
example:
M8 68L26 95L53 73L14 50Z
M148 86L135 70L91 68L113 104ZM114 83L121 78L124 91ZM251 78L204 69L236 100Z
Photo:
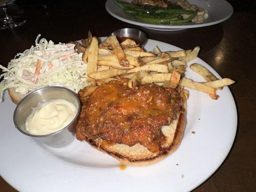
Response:
M125 54L122 50L121 45L119 44L116 36L110 36L107 38L110 45L112 45L114 49L114 53L117 56L117 59L121 66L127 67L129 66L129 61L126 59Z

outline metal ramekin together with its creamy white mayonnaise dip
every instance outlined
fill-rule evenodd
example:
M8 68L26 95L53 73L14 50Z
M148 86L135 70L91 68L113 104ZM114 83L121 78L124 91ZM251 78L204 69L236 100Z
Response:
M15 127L49 146L62 147L75 137L80 112L77 95L64 87L45 87L25 96L15 108Z

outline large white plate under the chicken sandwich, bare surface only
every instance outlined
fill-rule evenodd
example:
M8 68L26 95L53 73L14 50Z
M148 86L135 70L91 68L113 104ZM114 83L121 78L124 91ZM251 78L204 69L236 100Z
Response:
M145 48L152 50L156 45L163 51L180 49L150 39ZM195 58L193 62L220 78L203 60ZM186 77L203 81L189 68ZM228 87L218 91L218 100L189 91L187 126L178 150L157 164L125 170L120 170L117 160L85 142L75 139L66 147L51 148L22 134L13 125L15 105L5 93L5 101L0 103L0 175L20 192L191 191L228 155L236 133L237 112Z

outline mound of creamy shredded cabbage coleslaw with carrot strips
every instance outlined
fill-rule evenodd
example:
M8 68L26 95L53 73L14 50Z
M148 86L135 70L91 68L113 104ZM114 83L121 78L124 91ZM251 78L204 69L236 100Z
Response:
M0 65L3 74L0 83L0 102L3 91L15 88L22 95L46 86L62 86L78 93L89 85L87 82L87 63L82 53L77 53L74 44L54 44L36 38L36 46L18 53L5 68Z

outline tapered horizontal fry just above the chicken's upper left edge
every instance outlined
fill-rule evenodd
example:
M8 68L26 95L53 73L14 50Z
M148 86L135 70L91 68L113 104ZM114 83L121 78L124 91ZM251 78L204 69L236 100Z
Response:
M120 69L110 69L110 70L103 70L99 72L89 73L88 76L98 80L98 79L108 79L110 77L115 77L118 75L123 75L127 73L128 70L120 70Z

